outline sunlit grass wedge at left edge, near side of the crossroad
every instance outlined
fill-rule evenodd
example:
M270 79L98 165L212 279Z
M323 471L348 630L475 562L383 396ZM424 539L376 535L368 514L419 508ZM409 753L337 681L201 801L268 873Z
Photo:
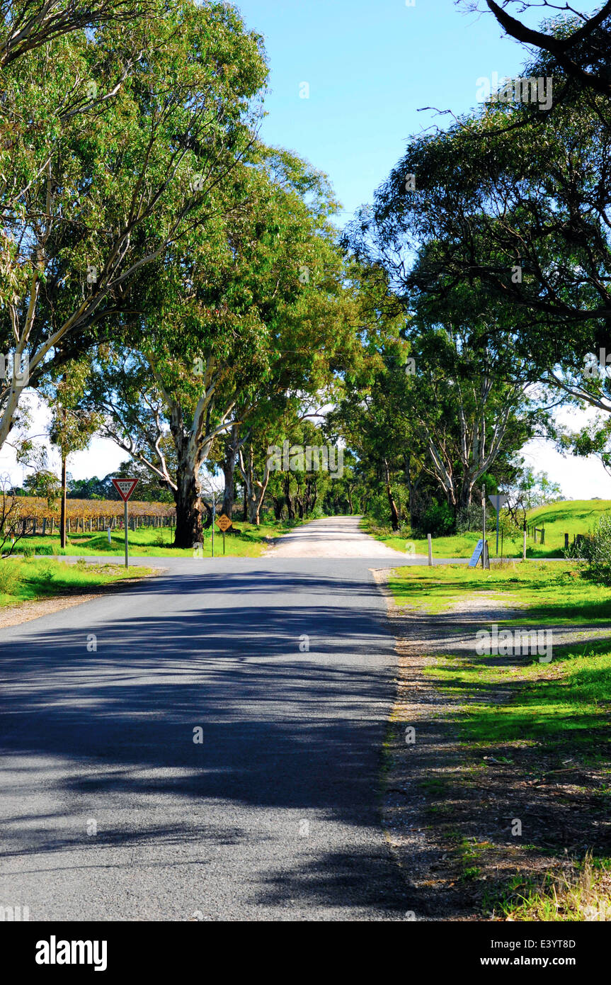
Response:
M141 578L152 568L120 564L66 564L56 558L0 560L0 608L35 599L87 592L124 578Z

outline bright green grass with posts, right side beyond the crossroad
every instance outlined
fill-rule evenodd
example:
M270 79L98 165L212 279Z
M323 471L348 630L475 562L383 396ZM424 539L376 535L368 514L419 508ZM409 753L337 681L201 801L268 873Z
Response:
M562 558L565 546L565 534L569 534L569 543L577 534L587 534L596 526L599 516L611 511L611 499L571 499L550 503L530 510L527 517L529 525L545 528L545 544L535 544L532 537L526 541L526 558ZM371 520L362 521L363 529L372 534L376 540L382 541L394 551L405 554L426 555L428 543L426 538L418 539L409 533L394 534L389 530L377 527ZM496 554L496 513L492 507L486 511L486 535L490 556ZM470 558L481 537L480 531L457 534L451 537L433 538L434 558ZM537 542L539 538L537 537ZM499 554L501 540L499 539ZM506 558L521 558L521 533L503 538L503 555Z

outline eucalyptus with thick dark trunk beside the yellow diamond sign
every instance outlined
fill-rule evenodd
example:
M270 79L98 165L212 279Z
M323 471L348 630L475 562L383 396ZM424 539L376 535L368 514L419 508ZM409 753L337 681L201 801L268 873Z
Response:
M140 338L92 380L107 432L173 489L180 547L201 538L214 441L267 401L327 386L355 347L325 176L258 146L234 181L243 206L227 218L235 188L216 190L206 237L194 232L151 268ZM168 433L174 476L159 456Z

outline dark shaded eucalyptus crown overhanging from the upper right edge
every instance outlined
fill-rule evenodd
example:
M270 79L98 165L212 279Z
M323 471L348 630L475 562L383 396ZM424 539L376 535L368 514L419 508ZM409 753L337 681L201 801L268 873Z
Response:
M527 75L546 75L546 59ZM475 290L491 337L507 333L507 320L496 321L504 305L512 359L529 381L547 384L556 401L606 414L608 99L596 87L567 87L542 121L510 97L413 139L348 238L357 255L384 267L406 306Z

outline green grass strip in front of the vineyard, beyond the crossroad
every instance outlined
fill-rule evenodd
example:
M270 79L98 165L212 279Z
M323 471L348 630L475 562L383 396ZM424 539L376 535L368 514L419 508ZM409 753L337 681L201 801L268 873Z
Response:
M225 555L232 558L259 558L268 547L267 539L280 537L282 534L297 526L299 520L266 522L260 527L250 523L236 522L239 533L225 535ZM67 538L64 550L59 546L59 534L45 537L25 537L15 549L16 554L24 550L32 554L99 557L100 555L122 557L125 552L125 534L122 530L113 530L108 535L102 533L72 534ZM143 527L129 531L130 555L135 558L193 558L193 549L173 548L174 532L169 527ZM212 533L205 531L202 541L203 556L212 556ZM222 556L222 534L214 533L214 557Z

